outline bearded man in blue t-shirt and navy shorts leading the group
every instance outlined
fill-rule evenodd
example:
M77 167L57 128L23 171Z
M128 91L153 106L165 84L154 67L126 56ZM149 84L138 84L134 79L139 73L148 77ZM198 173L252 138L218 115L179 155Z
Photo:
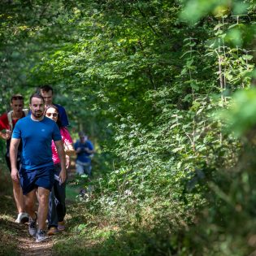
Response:
M62 137L57 124L45 117L44 98L39 93L30 97L31 115L20 119L12 132L10 159L11 178L20 180L24 193L24 202L28 212L28 231L36 236L36 241L45 241L46 217L48 213L49 194L54 184L54 163L52 160L51 141L54 141L61 160L59 178L66 180L65 152ZM22 141L21 167L17 169L17 151ZM35 198L39 206L35 212ZM38 221L38 229L37 229Z

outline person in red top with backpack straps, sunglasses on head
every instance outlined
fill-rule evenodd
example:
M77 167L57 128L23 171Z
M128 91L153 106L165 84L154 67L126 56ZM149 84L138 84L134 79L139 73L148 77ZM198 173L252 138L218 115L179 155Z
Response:
M7 167L11 173L11 162L10 162L10 143L11 143L11 133L15 124L21 118L28 115L28 109L24 109L24 98L20 94L15 94L11 97L11 111L4 113L0 116L0 137L7 141L7 153L6 161ZM21 155L22 145L19 146L17 155L17 166L20 167L20 155ZM13 195L15 199L15 204L18 210L18 216L15 220L16 223L26 223L28 222L28 214L25 212L24 207L24 197L22 189L20 187L20 182L12 180Z

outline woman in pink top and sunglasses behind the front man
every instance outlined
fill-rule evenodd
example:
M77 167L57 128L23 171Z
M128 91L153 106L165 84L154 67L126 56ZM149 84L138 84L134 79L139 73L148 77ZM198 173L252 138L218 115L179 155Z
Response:
M70 166L70 158L68 154L74 154L75 150L73 148L72 137L70 136L67 128L60 127L59 120L59 111L58 108L54 105L47 106L46 108L46 117L53 119L59 125L59 131L62 136L64 149L66 152L66 165ZM54 161L54 186L50 192L49 198L49 211L48 211L48 235L54 235L59 230L63 230L64 227L64 217L66 215L66 181L63 184L59 182L59 172L60 160L58 151L54 145L54 141L51 144L52 158Z

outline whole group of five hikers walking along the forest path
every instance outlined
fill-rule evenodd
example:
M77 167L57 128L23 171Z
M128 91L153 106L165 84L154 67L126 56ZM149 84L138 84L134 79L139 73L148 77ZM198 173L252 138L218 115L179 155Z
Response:
M23 96L15 94L12 110L0 116L0 137L7 141L6 161L18 210L15 222L28 222L28 232L37 242L65 229L70 156L77 155L76 173L91 176L90 156L94 153L84 132L79 133L74 149L66 111L53 103L53 96L50 85L42 86L30 97L28 111Z

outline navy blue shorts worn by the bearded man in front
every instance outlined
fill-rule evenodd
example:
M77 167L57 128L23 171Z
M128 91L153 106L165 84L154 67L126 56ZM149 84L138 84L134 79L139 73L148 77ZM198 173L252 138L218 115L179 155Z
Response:
M54 185L54 165L35 170L26 170L21 167L19 172L24 195L38 187L51 190Z

